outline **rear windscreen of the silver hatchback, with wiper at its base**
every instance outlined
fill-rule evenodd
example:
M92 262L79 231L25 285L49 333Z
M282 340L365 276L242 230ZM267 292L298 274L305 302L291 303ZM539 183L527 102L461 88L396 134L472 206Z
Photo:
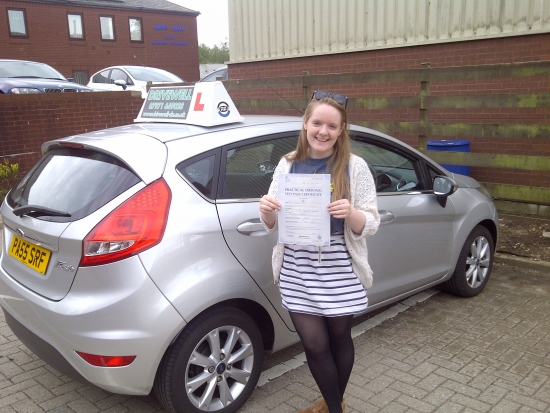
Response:
M120 160L96 151L59 148L48 151L6 198L8 205L62 211L70 216L27 215L72 222L96 211L140 178Z

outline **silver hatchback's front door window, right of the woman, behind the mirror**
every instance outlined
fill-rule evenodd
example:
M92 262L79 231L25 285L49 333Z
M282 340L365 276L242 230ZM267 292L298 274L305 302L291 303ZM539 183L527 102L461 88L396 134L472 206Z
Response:
M419 160L397 148L355 137L351 151L367 162L377 193L422 191L429 187L422 178Z

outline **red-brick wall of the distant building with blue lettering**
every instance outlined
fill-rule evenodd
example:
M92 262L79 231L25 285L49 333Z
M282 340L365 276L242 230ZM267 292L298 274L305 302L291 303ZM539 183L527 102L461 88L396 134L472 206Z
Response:
M28 39L9 36L7 9L25 9ZM85 40L69 40L67 13L82 13ZM114 16L116 41L101 41L99 16ZM129 17L143 20L143 43L130 43ZM114 65L141 65L168 70L186 81L199 80L199 52L195 16L176 13L138 12L75 5L2 1L0 7L0 58L47 63L66 77L73 71L87 71L88 76ZM154 30L166 25L168 30ZM173 31L183 26L184 31ZM187 42L187 46L152 44L174 36L170 41ZM134 58L134 55L136 56ZM140 63L141 62L141 63Z

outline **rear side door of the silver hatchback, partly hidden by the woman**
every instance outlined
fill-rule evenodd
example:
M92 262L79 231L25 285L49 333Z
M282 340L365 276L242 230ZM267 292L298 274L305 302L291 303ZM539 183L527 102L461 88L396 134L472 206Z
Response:
M271 135L229 145L222 150L216 206L227 245L254 278L288 328L294 330L281 306L273 282L271 253L277 233L267 233L259 218L259 199L267 194L281 156L294 150L295 133Z

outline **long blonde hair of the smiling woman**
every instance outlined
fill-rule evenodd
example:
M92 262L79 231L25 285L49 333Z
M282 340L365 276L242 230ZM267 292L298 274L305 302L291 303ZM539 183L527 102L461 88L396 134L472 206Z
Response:
M347 165L349 163L350 156L350 137L349 137L349 126L348 126L348 116L346 109L336 103L336 101L330 97L324 98L321 100L311 100L306 107L304 113L304 122L307 123L313 110L320 105L329 105L337 109L340 112L342 119L342 125L345 127L342 129L342 132L338 136L336 143L334 144L334 153L328 161L328 170L330 171L332 185L334 187L332 191L332 200L338 201L344 196L349 197L349 179L347 173ZM304 127L300 131L300 137L298 138L298 144L296 150L285 155L285 158L288 161L301 161L309 156L309 144L307 142L307 131Z

